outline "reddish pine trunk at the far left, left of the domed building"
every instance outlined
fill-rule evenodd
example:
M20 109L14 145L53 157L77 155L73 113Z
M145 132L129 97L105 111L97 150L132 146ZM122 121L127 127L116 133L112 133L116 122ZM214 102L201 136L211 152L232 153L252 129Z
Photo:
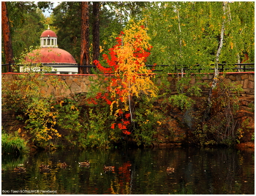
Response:
M12 39L10 33L9 18L7 13L7 4L5 1L1 2L1 29L4 40L4 56L6 63L15 63L12 52ZM12 72L12 67L8 66L7 71Z

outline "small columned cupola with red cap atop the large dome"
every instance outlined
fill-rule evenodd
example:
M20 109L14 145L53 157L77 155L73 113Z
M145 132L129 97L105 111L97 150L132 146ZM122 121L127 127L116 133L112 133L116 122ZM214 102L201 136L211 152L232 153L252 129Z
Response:
M42 32L40 36L40 47L58 47L57 35L54 31L50 30L49 25L48 29Z

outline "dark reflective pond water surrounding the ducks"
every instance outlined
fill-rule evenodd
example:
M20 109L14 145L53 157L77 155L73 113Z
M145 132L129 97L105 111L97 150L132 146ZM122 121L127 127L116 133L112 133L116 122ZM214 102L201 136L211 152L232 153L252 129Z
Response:
M2 156L1 167L2 194L255 194L255 152L237 149L72 149Z

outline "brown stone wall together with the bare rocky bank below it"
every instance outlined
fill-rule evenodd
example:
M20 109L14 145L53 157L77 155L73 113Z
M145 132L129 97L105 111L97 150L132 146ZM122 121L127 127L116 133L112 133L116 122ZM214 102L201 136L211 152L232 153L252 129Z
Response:
M2 85L4 82L12 82L15 79L19 79L18 74L1 74L2 77ZM37 76L36 76L37 77ZM55 77L59 81L64 82L65 85L56 88L52 85L50 81L52 81L52 77ZM111 75L105 76L111 77ZM181 77L181 75L179 75ZM195 76L191 76L192 79L190 81L190 85L195 85L196 82L205 82L206 85L201 85L200 88L203 91L202 97L194 97L197 105L200 105L200 100L208 95L209 85L211 85L212 79L214 77L213 74L205 74L202 78L198 78ZM242 92L239 96L239 105L240 110L236 115L236 120L241 125L246 125L243 128L244 138L241 139L241 142L251 141L252 134L254 133L255 128L255 120L254 120L254 111L252 110L252 104L254 105L254 96L255 96L255 72L236 72L236 73L227 73L225 75L220 74L219 77L223 82L230 83L232 82L234 85L240 85L242 88ZM74 74L74 75L56 75L56 74L45 74L46 83L41 88L40 93L42 95L53 95L56 99L63 99L68 97L74 97L74 95L84 94L89 92L91 88L92 82L99 82L99 77L96 75L84 75L84 74ZM168 74L167 80L170 82L170 85L167 88L172 90L172 93L176 93L176 82L178 81L177 74ZM102 79L104 82L104 77ZM161 82L161 81L159 81ZM67 86L67 87L64 87ZM187 87L184 87L186 90ZM4 95L2 95L2 98ZM159 100L159 103L161 100ZM159 104L161 105L161 104ZM181 144L181 142L185 141L189 135L189 131L192 130L192 122L194 119L189 114L183 114L181 111L178 111L176 108L170 108L170 116L165 120L166 122L162 127L162 130L165 130L172 135L172 139L170 141L165 141L164 137L159 134L157 137L162 140L163 144ZM191 122L191 123L190 123ZM246 123L244 123L246 122ZM6 130L18 130L20 123L17 119L15 119L14 114L4 114L2 111L2 123L4 123L4 128ZM185 127L180 127L180 123L186 124ZM190 124L189 124L190 123ZM3 125L3 124L2 124ZM20 125L21 126L21 125Z

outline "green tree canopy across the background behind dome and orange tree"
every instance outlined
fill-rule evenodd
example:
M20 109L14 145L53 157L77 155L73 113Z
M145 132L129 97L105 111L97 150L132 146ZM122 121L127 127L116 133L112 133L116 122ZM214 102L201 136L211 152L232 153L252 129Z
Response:
M39 36L50 25L59 38L59 47L80 62L81 3L7 2L12 47L15 57L31 45L39 45ZM42 10L53 9L50 17ZM153 46L147 64L210 65L219 47L222 20L225 35L219 62L254 62L254 2L228 2L223 13L222 2L101 2L99 6L99 48L107 54L116 37L130 19L145 21ZM93 31L93 4L89 3L90 52ZM28 36L23 36L28 35ZM2 47L3 48L3 47ZM92 56L92 54L91 54ZM99 57L102 55L99 55ZM92 59L92 58L91 58ZM245 61L246 60L246 61ZM4 59L2 58L2 61ZM92 62L91 62L92 63Z

